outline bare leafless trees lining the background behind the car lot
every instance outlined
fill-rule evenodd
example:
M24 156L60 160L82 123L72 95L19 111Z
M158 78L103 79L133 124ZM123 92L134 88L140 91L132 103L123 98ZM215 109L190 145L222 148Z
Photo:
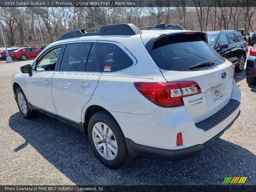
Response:
M223 29L256 28L255 7L218 7L218 0L192 0L194 7L186 7L185 0L156 1L148 7L2 7L0 24L8 46L41 45L54 42L61 34L72 29L82 29L118 23L133 23L138 27L159 23L179 24L187 30L214 31ZM163 6L165 5L165 6ZM42 38L41 38L42 34ZM3 46L0 38L0 46Z

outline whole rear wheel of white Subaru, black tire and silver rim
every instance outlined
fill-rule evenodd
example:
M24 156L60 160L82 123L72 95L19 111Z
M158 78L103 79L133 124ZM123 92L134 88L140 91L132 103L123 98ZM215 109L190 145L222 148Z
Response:
M101 134L104 134L104 130L106 130L106 135L103 135L102 138ZM95 156L107 167L118 169L132 161L128 155L124 134L120 126L106 111L101 110L92 115L88 123L88 138Z

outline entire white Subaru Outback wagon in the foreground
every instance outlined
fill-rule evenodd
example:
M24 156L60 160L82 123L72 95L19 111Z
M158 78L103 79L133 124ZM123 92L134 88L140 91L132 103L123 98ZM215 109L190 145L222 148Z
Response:
M239 116L234 67L206 33L165 24L86 30L60 36L12 88L22 116L39 111L74 125L106 166L195 156Z

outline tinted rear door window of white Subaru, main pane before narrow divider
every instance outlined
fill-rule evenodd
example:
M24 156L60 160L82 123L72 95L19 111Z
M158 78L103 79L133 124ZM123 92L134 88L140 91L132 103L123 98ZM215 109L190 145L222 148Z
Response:
M60 71L85 71L92 43L67 44L60 64Z

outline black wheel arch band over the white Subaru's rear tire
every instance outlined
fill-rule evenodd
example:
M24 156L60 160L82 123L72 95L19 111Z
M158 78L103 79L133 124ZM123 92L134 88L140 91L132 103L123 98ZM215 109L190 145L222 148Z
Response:
M84 124L82 127L82 129L84 129L84 134L88 135L87 128L88 128L89 120L92 117L92 115L98 111L104 111L104 112L108 113L108 115L113 117L113 119L115 119L115 117L111 113L109 113L109 111L107 109L100 107L99 105L91 105L89 108L87 108L87 110L85 112L85 116L84 116Z

